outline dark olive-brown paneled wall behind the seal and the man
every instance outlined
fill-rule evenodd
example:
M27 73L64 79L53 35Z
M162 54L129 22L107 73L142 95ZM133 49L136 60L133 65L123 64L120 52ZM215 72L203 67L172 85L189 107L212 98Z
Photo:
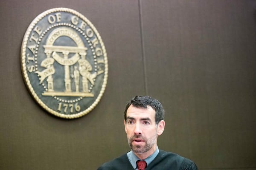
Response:
M72 8L108 53L105 93L87 115L52 116L20 71L38 14ZM95 170L129 150L126 102L150 95L166 110L160 149L201 170L256 170L255 0L0 0L0 170Z

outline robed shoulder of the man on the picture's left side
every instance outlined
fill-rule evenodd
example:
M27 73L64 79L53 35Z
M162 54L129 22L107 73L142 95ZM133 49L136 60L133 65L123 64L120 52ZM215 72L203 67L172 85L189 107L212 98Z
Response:
M130 164L130 161L127 157L127 153L125 153L111 161L105 162L98 170L119 170L122 169L124 165L128 164Z

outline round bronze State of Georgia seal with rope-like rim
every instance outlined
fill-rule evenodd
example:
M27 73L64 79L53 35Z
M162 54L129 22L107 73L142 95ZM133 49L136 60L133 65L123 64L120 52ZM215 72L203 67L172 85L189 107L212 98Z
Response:
M53 8L29 25L21 68L34 99L49 113L73 119L99 103L108 79L104 43L93 24L69 8Z

